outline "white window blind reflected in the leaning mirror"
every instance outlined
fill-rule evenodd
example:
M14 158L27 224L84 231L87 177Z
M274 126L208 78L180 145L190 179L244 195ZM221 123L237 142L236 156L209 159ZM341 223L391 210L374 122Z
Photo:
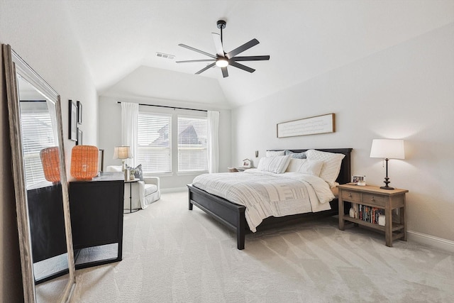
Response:
M23 165L27 188L46 181L40 151L43 148L57 145L53 137L52 121L47 106L44 101L39 103L38 109L35 107L33 110L23 110L22 108L31 107L27 106L30 104L38 105L38 103L21 104Z

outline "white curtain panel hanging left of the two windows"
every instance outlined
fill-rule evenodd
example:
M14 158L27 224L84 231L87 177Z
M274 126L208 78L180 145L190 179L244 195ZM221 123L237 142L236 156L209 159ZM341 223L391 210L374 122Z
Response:
M139 104L121 102L121 145L129 146L133 155L127 159L129 166L135 167L137 159L137 124L139 116Z

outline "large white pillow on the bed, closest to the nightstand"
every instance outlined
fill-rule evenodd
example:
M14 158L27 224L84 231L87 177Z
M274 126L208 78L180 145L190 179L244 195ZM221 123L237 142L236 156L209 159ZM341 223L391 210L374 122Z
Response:
M341 171L342 159L345 157L343 153L326 153L320 150L307 150L306 157L309 160L323 161L323 167L319 177L328 182L330 187L334 187L336 179Z

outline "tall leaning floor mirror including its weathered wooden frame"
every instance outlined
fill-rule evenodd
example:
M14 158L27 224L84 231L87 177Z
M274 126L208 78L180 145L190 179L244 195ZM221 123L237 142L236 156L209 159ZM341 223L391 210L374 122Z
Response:
M75 268L60 96L2 50L24 302L67 302Z

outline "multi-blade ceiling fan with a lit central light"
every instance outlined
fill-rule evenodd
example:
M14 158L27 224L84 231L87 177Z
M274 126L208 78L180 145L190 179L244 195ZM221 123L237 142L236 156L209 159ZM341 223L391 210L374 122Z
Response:
M187 48L188 50L194 50L194 52L201 53L203 55L211 57L211 59L184 60L184 61L177 61L177 63L212 62L211 64L206 65L206 67L199 70L199 72L196 72L195 75L199 75L202 72L204 72L204 71L208 70L209 68L214 67L216 65L217 67L221 67L222 75L225 78L225 77L228 77L228 70L227 70L228 65L237 67L240 70L245 70L246 72L255 72L255 70L253 68L242 65L242 64L238 63L238 61L270 60L269 55L236 57L236 55L243 53L245 50L248 50L249 48L252 48L253 46L258 45L259 42L257 39L250 40L249 42L244 43L243 45L239 46L238 48L236 48L234 50L231 50L228 53L224 52L223 46L222 46L222 30L224 28L226 28L226 21L219 20L216 24L217 24L218 28L221 30L221 35L219 35L218 33L211 33L213 35L214 46L216 47L216 55L211 55L210 53L206 53L203 50L198 50L196 48L192 48L191 46L188 46L188 45L179 44L179 46L181 46L182 48Z

